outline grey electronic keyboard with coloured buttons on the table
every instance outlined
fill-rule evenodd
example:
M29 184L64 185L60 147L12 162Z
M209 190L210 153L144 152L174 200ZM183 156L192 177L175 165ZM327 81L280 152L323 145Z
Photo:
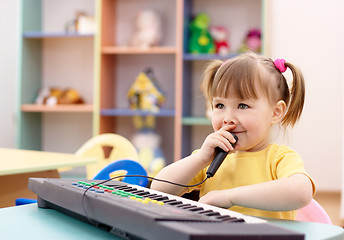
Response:
M111 180L30 178L38 207L52 208L123 239L304 239L266 220Z

